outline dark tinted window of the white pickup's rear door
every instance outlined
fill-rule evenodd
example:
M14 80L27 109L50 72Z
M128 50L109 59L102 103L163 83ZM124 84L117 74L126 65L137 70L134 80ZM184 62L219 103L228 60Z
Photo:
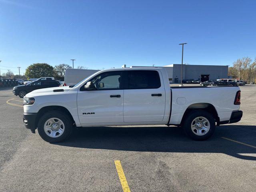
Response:
M157 89L160 88L160 76L156 70L127 70L126 89Z

